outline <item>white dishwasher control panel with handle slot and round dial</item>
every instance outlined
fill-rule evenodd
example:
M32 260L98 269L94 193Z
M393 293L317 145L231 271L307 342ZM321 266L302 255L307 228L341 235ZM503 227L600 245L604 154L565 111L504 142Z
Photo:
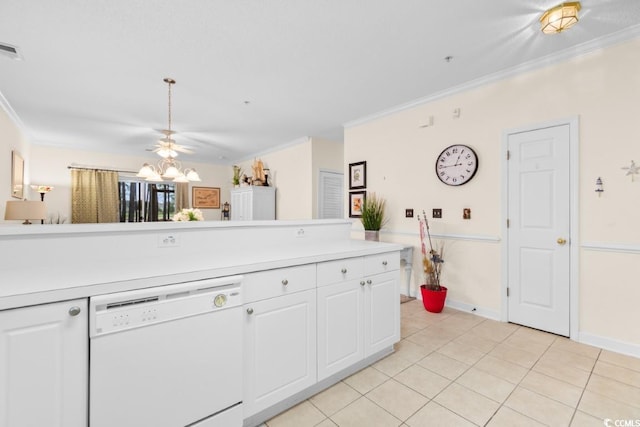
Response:
M234 276L93 297L89 335L96 337L240 307L240 283L241 277Z

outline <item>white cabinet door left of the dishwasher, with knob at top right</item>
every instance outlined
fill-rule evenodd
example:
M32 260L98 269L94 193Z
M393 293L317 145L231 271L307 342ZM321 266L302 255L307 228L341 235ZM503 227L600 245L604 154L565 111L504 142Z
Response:
M85 299L0 311L0 427L87 425L87 311Z

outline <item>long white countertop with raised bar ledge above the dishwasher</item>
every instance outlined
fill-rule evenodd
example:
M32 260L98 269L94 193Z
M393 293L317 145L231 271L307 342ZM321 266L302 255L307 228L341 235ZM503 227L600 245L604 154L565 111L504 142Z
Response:
M345 220L14 228L0 227L0 309L402 249L351 240ZM168 234L179 244L159 248Z

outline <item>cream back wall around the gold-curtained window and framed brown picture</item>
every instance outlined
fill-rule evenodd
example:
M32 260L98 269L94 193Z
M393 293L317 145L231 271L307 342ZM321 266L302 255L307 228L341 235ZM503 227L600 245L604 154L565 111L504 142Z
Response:
M137 171L144 162L153 161L151 155L132 157L112 153L69 150L64 148L32 145L31 148L31 181L35 184L52 185L54 190L45 195L48 213L71 219L71 164L103 167L124 171ZM190 183L189 188L219 187L221 205L229 200L232 171L230 166L210 165L184 161L188 167L198 171L202 182ZM31 199L37 200L38 194ZM189 191L191 201L191 191ZM219 220L220 209L202 209L205 220Z

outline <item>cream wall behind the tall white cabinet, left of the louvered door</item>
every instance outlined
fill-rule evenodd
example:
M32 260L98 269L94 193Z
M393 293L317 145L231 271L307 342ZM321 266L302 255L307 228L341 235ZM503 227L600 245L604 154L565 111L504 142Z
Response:
M292 145L256 157L270 170L269 182L276 187L276 219L312 218L311 154L311 139L302 138ZM251 175L253 161L238 164L247 176Z

